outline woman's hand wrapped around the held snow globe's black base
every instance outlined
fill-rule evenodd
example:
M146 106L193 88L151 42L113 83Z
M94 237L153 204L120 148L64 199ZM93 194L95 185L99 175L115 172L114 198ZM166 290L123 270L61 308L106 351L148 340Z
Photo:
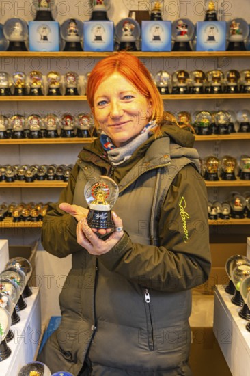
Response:
M87 219L82 218L77 224L77 243L79 243L83 248L85 248L89 254L99 256L109 252L115 244L122 239L124 234L122 230L122 219L117 216L115 212L112 212L113 222L115 228L119 228L119 231L112 232L108 239L100 239L96 232L96 229L92 229L87 224ZM100 232L100 230L99 230ZM108 232L105 230L105 232Z

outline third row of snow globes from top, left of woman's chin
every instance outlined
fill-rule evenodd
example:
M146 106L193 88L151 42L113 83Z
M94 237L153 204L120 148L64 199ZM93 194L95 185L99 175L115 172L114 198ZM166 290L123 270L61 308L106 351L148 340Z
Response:
M82 137L94 136L93 117L90 113L47 113L42 117L38 113L31 113L27 118L16 114L11 118L0 115L0 139L39 139L57 137Z

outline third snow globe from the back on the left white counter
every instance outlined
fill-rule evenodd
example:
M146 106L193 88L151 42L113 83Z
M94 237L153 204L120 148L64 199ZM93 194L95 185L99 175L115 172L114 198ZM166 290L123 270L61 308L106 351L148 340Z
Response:
M10 280L10 278L4 278L0 274L0 292L9 295L10 299L12 299L14 310L12 313L11 325L15 325L20 321L20 316L16 311L16 304L20 299L20 287L14 280Z

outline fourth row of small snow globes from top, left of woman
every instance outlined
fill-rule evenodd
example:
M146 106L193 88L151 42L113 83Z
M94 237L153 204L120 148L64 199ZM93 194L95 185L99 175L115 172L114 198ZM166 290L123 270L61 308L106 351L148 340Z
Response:
M68 181L73 165L0 165L0 182Z

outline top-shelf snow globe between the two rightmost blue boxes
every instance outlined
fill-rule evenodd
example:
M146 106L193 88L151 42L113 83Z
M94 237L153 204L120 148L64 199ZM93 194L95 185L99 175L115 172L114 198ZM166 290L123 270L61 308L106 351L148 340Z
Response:
M195 36L195 27L191 20L178 18L172 23L173 51L192 51L191 40Z

